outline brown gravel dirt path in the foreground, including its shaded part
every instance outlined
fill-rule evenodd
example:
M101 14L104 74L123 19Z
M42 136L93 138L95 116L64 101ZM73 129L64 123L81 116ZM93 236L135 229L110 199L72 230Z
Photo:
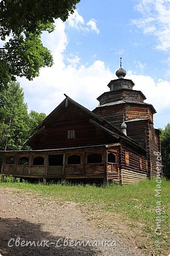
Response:
M51 197L0 188L0 217L0 255L3 256L143 255L133 239L116 234L118 226L93 225L88 214L73 202L61 204ZM26 246L26 241L35 241L35 245L39 241L41 246ZM75 246L76 242L82 244Z

